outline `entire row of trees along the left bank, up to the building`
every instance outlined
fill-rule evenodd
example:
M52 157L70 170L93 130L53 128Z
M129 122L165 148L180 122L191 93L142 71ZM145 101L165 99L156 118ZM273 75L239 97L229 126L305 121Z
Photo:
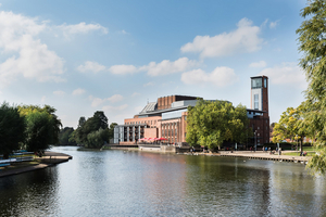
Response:
M17 150L42 153L50 144L73 144L85 148L101 148L113 139L116 123L108 126L108 117L97 111L92 117L79 118L76 130L62 128L61 120L50 105L0 106L0 154L8 158Z

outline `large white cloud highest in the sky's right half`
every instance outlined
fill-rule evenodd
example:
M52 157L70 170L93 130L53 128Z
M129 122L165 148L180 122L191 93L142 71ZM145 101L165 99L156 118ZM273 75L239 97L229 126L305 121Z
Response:
M213 37L196 36L192 42L181 47L181 52L200 53L201 58L226 56L236 53L250 53L261 49L263 39L259 37L261 28L242 18L238 28Z

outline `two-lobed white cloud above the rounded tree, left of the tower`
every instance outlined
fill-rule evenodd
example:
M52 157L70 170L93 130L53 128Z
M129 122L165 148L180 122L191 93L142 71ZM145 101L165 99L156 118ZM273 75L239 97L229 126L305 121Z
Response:
M217 87L225 87L233 85L238 79L234 69L229 67L216 67L212 73L205 73L199 68L181 75L181 81L187 85L213 84Z

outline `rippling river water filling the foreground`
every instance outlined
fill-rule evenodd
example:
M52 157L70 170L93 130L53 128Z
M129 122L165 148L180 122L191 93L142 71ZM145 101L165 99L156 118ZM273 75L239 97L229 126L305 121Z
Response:
M0 216L325 216L304 165L53 148L73 159L0 178Z

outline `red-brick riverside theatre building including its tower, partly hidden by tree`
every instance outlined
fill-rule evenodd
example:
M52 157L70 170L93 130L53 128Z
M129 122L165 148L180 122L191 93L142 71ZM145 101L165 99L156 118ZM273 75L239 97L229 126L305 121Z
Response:
M114 143L137 144L142 138L165 138L168 143L186 143L188 106L195 106L198 97L168 95L148 103L143 110L114 128ZM251 77L251 103L247 110L254 137L250 144L269 142L268 78Z

